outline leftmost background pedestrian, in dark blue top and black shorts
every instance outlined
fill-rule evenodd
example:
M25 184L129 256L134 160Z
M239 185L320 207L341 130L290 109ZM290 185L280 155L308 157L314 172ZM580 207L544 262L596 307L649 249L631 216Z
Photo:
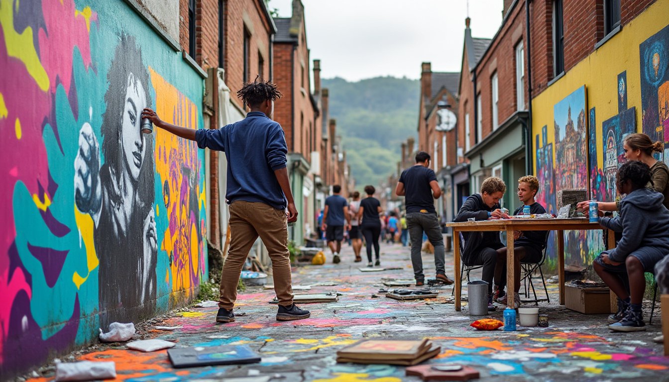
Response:
M325 199L323 223L320 227L325 231L325 239L328 241L330 251L332 251L332 262L334 264L341 262L339 253L341 252L341 241L344 240L344 221L349 225L347 228L351 229L349 203L339 193L341 193L341 186L333 185L332 195Z

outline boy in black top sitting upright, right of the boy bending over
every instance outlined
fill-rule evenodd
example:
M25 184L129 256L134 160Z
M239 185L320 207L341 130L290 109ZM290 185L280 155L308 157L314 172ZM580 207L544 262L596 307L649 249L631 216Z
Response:
M514 211L514 215L522 215L522 207L530 206L530 214L546 213L546 209L537 201L535 196L539 191L539 179L534 176L527 176L518 179L518 199L522 205ZM514 301L520 306L520 261L524 263L541 262L542 251L546 248L547 231L515 231L514 232ZM493 300L500 304L506 304L506 247L497 250L497 266L495 268L495 288L492 292Z

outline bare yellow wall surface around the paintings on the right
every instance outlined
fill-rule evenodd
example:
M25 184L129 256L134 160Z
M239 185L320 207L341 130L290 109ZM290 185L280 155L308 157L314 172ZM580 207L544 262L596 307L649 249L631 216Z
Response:
M603 166L602 122L618 114L617 75L627 71L628 108L636 107L637 131L642 131L639 45L669 24L669 0L658 0L632 22L624 25L609 41L579 62L544 92L532 100L532 136L541 138L541 128L547 128L547 142L555 148L553 107L577 88L585 85L588 111L595 108L597 128L597 167ZM565 47L569 49L569 46ZM535 151L537 147L534 147ZM583 159L586 160L585 158ZM537 173L536 155L533 172ZM555 163L555 149L553 150ZM557 165L556 165L557 167ZM587 188L587 185L583 185ZM558 190L556 190L558 191Z

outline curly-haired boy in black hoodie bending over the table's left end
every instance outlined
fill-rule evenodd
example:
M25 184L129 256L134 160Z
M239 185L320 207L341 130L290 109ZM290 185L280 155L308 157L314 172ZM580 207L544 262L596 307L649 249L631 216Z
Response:
M467 221L471 217L476 220L508 217L508 213L500 209L499 203L505 191L506 185L502 179L489 177L481 184L481 193L476 193L464 201L454 221ZM488 283L488 310L495 310L497 307L492 304L492 278L497 264L497 250L504 247L500 241L500 233L462 232L462 237L462 263L466 266L483 266L482 280Z

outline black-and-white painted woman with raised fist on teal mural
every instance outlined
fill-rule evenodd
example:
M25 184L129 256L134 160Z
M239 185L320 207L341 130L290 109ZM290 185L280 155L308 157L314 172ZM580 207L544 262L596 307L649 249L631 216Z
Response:
M80 130L74 161L76 206L95 222L102 326L116 316L151 313L157 263L153 135L140 131L140 112L151 107L149 72L133 37L120 37L107 80L104 163L89 124Z

